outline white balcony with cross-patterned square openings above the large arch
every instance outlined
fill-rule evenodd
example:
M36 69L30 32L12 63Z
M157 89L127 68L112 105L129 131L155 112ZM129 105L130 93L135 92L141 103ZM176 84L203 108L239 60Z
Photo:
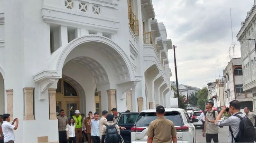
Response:
M114 34L119 30L117 15L118 4L103 0L43 0L42 18L48 24Z

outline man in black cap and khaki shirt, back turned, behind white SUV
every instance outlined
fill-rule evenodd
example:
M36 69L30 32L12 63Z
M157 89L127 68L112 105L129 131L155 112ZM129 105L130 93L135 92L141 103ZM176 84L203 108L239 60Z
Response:
M148 143L177 143L177 132L174 123L164 118L165 109L158 106L156 109L157 119L152 121L148 127Z

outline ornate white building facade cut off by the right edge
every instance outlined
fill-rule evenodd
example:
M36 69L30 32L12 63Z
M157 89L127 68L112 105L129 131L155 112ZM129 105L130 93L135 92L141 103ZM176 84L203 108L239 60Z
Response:
M243 91L253 94L253 105L256 104L256 2L252 9L247 12L245 21L237 34L237 41L240 42L243 69ZM254 111L256 107L253 107Z

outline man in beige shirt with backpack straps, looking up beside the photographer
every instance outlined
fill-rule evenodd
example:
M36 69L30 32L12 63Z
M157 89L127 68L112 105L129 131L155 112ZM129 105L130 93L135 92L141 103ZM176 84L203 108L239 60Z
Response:
M218 112L213 110L213 102L207 102L206 109L208 110L205 113L205 123L203 129L203 137L206 138L206 142L210 143L211 139L213 139L214 143L219 142L218 133L219 128L217 125L214 124L216 116L218 116Z

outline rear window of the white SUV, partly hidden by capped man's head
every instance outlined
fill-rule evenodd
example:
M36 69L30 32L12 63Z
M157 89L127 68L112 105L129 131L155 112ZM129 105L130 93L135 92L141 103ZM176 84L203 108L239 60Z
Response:
M182 126L182 118L179 112L166 112L164 115L165 118L173 121L175 126ZM155 113L146 113L141 112L137 118L135 125L138 126L149 126L150 122L157 119L157 115Z

